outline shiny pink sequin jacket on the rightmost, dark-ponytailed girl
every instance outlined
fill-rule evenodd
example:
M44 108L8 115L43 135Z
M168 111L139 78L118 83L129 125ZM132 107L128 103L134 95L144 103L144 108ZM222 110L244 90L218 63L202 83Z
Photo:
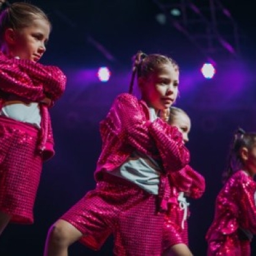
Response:
M256 182L244 171L237 171L220 191L215 204L215 217L206 239L220 240L237 235L238 229L256 233Z

